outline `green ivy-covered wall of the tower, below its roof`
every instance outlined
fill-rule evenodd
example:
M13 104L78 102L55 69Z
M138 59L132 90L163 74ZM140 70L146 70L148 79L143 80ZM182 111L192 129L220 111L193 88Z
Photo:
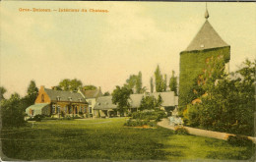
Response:
M179 65L179 111L183 112L191 103L192 85L206 66L208 58L224 56L224 62L230 60L230 46L205 49L200 51L183 51L180 53Z

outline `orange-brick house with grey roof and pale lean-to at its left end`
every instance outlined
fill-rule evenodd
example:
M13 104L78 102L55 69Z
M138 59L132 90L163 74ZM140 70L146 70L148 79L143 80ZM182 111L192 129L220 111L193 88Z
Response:
M34 105L26 109L29 116L43 114L56 118L87 114L88 102L82 94L40 86Z

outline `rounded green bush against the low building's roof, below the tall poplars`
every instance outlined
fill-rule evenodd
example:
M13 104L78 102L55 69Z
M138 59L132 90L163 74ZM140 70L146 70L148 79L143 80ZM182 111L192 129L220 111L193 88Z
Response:
M160 107L160 104L162 103L162 98L159 95L159 98L156 99L153 95L146 95L142 97L141 104L139 109L141 111L143 110L152 110L157 107Z

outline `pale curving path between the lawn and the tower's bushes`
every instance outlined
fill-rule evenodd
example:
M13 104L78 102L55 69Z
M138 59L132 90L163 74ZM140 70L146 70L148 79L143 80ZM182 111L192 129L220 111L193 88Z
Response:
M175 130L175 127L169 126L169 121L168 119L162 119L158 125L160 127L170 129L170 130ZM228 135L232 134L225 134L225 133L219 133L219 132L213 132L213 131L207 131L207 130L201 130L201 129L194 129L190 127L184 127L188 130L189 134L191 135L199 135L199 136L207 136L207 137L213 137L213 138L218 138L218 139L224 139L226 140ZM256 137L248 136L251 140L253 140L254 143L256 143Z

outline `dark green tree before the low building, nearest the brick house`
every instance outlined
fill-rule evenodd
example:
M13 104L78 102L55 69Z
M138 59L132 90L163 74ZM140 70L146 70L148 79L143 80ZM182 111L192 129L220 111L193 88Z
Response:
M126 86L116 86L112 93L112 102L117 105L120 115L123 116L124 112L130 107L129 99L132 94L132 89Z

